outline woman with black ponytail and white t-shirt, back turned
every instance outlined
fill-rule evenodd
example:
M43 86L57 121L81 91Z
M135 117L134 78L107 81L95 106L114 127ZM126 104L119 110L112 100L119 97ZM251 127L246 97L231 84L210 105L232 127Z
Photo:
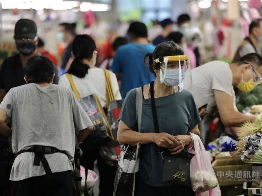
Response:
M96 53L95 41L89 35L76 35L72 45L74 59L67 73L72 75L80 98L96 94L101 106L104 107L106 101L106 83L104 71L94 67L96 63ZM122 97L119 92L117 77L112 71L109 71L109 73L116 100L121 100ZM65 74L60 77L59 85L65 86L72 91L70 82ZM116 166L107 165L100 157L98 149L88 152L83 150L83 156L88 160L88 169L93 170L94 162L96 160L98 162L100 175L99 196L112 196Z

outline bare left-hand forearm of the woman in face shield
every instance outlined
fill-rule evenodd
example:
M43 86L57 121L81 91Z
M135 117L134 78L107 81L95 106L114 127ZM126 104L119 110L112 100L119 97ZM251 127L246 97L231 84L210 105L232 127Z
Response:
M137 145L140 144L148 144L154 142L154 135L156 133L138 133L132 130L126 130L121 134L117 134L117 141L120 144L130 144Z

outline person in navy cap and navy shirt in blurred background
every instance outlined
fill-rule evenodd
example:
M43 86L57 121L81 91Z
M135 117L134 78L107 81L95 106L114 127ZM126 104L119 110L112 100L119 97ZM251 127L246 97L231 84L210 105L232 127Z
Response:
M167 35L169 35L173 31L173 24L174 22L170 18L166 18L165 20L160 22L161 26L163 27L163 31L161 35L158 35L154 40L153 44L158 45L165 41Z

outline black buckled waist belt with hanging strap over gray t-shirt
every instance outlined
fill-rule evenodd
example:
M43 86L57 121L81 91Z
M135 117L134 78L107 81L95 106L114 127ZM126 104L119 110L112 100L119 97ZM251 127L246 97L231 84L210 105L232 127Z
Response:
M52 171L50 169L50 166L49 166L47 159L44 156L44 154L52 154L52 153L64 153L64 154L66 154L65 151L55 149L54 147L34 145L30 149L19 151L17 153L17 155L19 155L21 153L30 153L30 152L35 153L34 165L40 165L40 161L42 162L43 168L44 168L44 170L47 174L48 179L53 178L53 174L52 174Z

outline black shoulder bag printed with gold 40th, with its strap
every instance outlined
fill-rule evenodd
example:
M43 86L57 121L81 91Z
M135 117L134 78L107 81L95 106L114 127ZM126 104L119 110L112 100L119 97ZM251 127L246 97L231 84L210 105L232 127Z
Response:
M155 132L160 133L154 98L154 81L150 83L149 88ZM171 152L163 147L159 147L159 153L164 164L163 182L174 182L177 185L191 187L190 162L194 154L182 151L181 153L171 155Z

